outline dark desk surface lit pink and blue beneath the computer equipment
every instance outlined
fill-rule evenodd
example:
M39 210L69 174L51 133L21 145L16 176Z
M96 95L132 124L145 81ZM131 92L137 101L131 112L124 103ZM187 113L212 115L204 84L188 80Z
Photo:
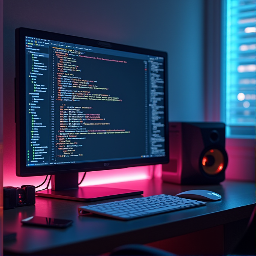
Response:
M98 255L123 244L148 244L222 226L223 255L230 253L238 242L255 207L254 183L224 181L220 185L179 186L155 178L104 186L140 189L144 190L144 196L207 189L220 194L222 200L192 209L120 221L96 215L78 216L77 207L86 203L37 197L35 206L4 211L4 229L17 232L16 241L4 244L4 253ZM20 220L32 215L72 219L74 223L64 230L22 226Z

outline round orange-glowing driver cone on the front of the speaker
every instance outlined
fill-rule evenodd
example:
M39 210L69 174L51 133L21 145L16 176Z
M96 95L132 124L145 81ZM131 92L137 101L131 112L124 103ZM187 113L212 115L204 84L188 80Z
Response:
M219 149L210 149L202 159L202 168L209 175L215 175L221 172L224 167L224 155Z

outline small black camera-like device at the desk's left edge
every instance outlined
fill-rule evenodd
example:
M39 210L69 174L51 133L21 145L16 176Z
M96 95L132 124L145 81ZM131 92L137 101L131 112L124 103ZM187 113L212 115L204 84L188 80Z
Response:
M35 204L35 186L3 187L3 209Z

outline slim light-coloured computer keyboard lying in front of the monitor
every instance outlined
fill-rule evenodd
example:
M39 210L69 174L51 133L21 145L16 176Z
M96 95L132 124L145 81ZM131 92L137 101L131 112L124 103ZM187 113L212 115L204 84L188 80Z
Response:
M115 219L129 220L158 213L172 212L175 210L187 209L205 205L205 202L190 200L171 195L153 195L150 197L140 197L114 201L109 203L91 204L79 206L79 215L96 213Z

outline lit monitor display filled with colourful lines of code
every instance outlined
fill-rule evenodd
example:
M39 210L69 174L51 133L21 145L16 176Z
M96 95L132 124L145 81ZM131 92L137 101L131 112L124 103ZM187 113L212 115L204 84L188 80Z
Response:
M110 53L26 38L27 166L165 155L163 60Z

